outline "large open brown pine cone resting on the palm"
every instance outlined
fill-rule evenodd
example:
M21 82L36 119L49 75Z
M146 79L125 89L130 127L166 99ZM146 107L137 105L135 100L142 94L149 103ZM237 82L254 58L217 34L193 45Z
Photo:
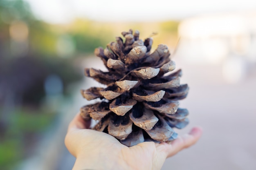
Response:
M188 110L178 108L179 99L188 94L187 84L180 85L182 71L175 69L166 45L160 44L150 53L152 38L139 39L139 31L121 33L106 49L95 49L108 72L85 68L85 76L106 84L107 88L81 90L88 100L102 102L83 106L85 120L99 122L94 130L106 132L126 146L144 141L173 141L173 128L184 128L189 120Z

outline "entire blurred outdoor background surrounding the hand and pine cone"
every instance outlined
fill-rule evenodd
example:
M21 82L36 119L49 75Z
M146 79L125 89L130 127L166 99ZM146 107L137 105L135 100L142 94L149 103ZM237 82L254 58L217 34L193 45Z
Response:
M0 0L0 169L71 170L67 126L100 86L93 51L139 30L167 44L190 86L181 107L204 129L162 170L256 169L256 2Z

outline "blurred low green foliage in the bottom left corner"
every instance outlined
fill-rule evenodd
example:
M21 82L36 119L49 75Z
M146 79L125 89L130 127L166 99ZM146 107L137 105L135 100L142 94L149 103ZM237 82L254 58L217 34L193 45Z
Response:
M6 122L8 128L2 136L4 138L1 137L0 140L0 168L13 169L24 158L25 153L32 149L29 150L28 145L33 145L33 139L27 137L47 130L55 116L56 114L45 108L16 108Z

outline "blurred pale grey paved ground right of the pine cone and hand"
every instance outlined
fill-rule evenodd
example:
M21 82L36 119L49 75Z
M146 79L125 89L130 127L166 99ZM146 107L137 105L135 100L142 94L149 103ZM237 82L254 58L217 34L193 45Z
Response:
M191 121L182 132L200 125L204 133L198 144L167 159L162 170L256 170L255 70L243 82L226 84L220 66L182 68L190 93L181 104Z

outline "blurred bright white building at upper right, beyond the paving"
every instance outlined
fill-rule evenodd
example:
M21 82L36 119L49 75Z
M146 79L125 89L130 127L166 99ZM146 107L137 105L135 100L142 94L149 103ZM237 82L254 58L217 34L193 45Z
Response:
M256 63L255 21L255 11L186 19L176 54L193 64L222 64L224 79L238 82Z

